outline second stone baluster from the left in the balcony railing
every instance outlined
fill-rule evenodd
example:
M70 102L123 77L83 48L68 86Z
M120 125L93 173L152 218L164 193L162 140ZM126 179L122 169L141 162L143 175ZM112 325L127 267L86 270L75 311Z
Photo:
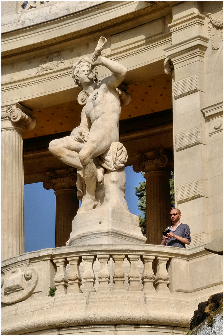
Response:
M68 283L69 283L69 289L68 292L81 292L80 286L81 286L81 275L79 272L79 264L81 262L80 257L68 257L67 261L70 264L70 271L68 274Z

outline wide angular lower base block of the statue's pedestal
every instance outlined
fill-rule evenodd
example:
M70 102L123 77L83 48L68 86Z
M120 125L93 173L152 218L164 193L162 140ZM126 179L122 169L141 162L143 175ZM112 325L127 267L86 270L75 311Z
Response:
M139 219L130 212L101 207L77 214L66 245L145 244Z

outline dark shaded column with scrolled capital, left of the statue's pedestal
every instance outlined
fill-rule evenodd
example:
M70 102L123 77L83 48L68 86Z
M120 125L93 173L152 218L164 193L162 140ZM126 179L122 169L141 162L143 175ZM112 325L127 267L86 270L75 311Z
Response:
M56 195L55 247L65 246L71 232L71 222L78 211L76 173L74 168L48 173L43 182Z

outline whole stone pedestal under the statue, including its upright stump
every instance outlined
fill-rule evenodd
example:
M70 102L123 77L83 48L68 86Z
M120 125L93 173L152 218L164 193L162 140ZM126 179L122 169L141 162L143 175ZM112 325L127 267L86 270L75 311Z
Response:
M96 191L98 205L93 210L77 213L66 245L145 243L138 217L128 210L125 183L123 168L104 174L104 184L98 185Z

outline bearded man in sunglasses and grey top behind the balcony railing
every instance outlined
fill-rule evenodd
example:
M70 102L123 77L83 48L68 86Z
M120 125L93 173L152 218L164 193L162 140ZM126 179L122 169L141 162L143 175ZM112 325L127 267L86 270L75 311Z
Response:
M172 209L170 217L173 225L165 229L165 231L170 230L170 232L163 236L160 245L186 248L185 244L190 244L189 226L180 222L181 213L179 209Z

